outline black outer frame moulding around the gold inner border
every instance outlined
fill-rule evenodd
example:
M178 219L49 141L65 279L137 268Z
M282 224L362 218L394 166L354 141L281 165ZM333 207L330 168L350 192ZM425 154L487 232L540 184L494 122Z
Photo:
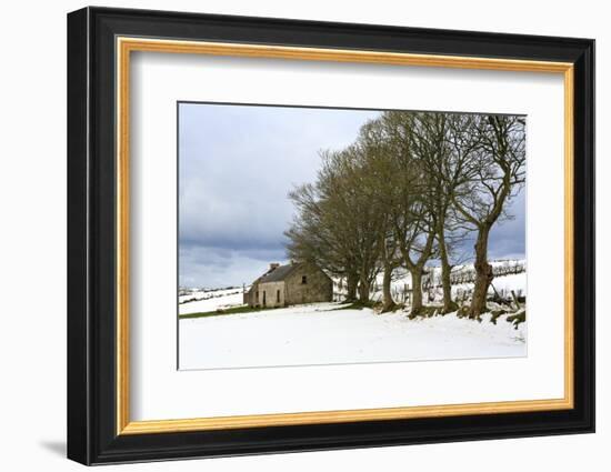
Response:
M563 61L574 64L574 408L117 434L116 37ZM594 41L84 8L68 14L68 458L83 464L594 431Z

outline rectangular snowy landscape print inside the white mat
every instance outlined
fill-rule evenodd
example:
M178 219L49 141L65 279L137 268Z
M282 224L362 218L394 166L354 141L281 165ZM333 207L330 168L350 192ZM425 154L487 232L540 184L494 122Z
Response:
M179 369L525 356L525 134L179 102Z

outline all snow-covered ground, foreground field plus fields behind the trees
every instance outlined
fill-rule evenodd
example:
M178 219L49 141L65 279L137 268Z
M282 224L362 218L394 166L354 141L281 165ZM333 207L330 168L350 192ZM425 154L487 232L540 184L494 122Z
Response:
M527 273L523 261L495 261L490 294L505 297L513 291L525 295ZM501 269L498 269L501 268ZM428 268L424 303L441 300L440 269ZM470 271L454 269L452 294L465 300L473 289ZM381 277L372 287L372 300L380 300ZM408 273L392 281L393 299L404 301L411 287ZM180 319L180 369L224 369L269 365L304 365L354 362L395 362L444 359L485 359L527 355L527 323L517 328L508 315L491 322L458 318L455 313L415 318L407 314L409 305L393 313L378 314L342 305L344 287L334 281L334 302L241 311L242 288L218 290L181 289L181 315L204 313L201 318ZM249 287L246 288L249 290ZM464 297L464 298L463 298ZM218 310L223 312L217 313Z

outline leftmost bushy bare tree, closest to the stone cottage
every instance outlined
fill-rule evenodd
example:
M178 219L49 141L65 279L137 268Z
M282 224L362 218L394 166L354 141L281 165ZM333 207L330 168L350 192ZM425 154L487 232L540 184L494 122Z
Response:
M345 275L348 299L352 300L358 290L359 300L367 303L379 270L380 217L365 184L363 152L353 144L321 153L315 184L301 185L289 194L298 213L286 235L290 257L310 259L337 275Z

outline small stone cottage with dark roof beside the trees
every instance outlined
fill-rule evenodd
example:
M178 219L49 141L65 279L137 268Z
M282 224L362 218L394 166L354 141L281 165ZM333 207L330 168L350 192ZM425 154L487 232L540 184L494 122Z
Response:
M270 264L269 270L244 292L244 304L277 308L290 304L330 302L333 281L319 267L307 262Z

